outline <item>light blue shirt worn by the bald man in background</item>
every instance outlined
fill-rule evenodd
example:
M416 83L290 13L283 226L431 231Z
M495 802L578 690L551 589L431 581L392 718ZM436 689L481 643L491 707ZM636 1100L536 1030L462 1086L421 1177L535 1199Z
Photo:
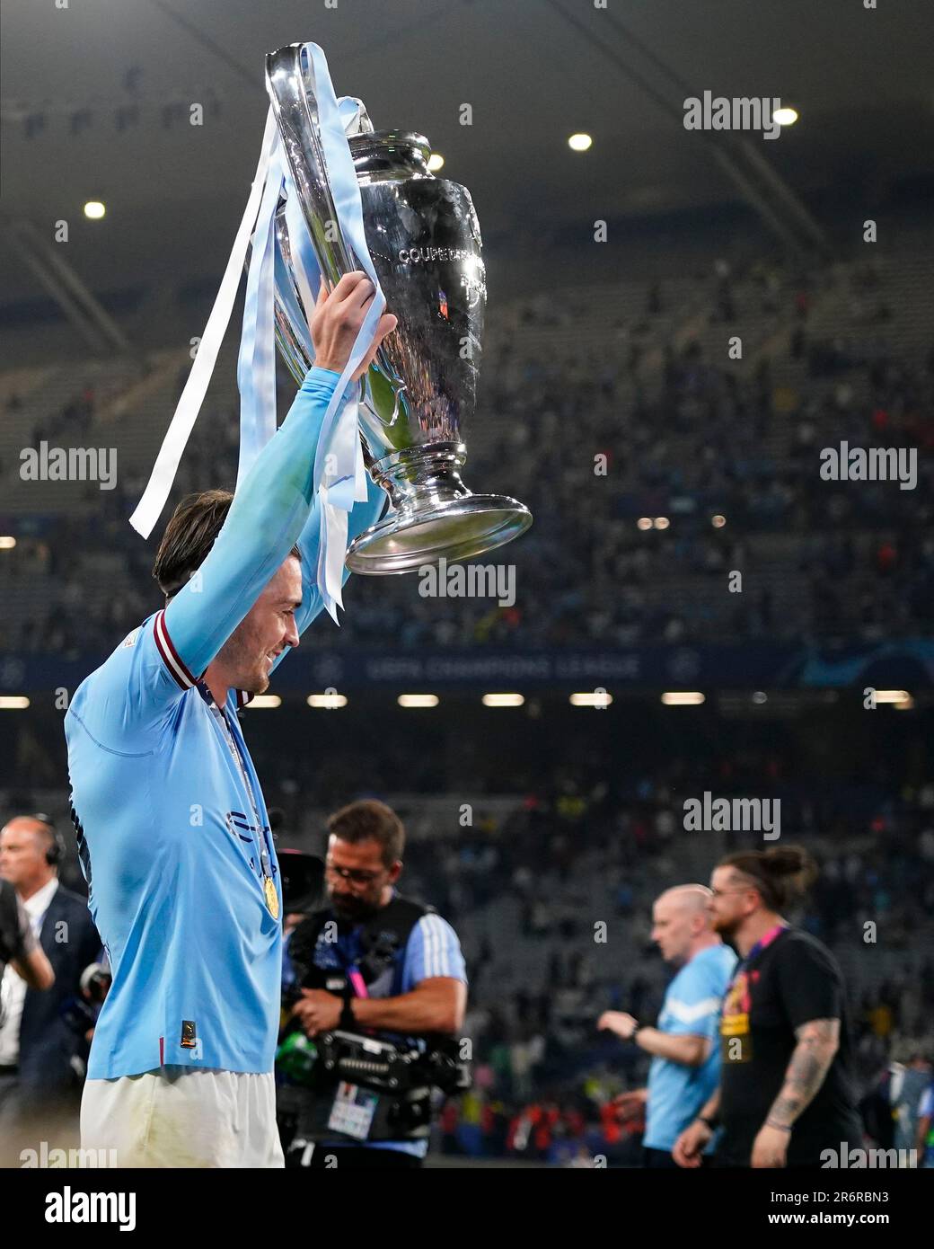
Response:
M643 1145L673 1149L697 1118L719 1080L717 1027L737 955L727 945L708 945L678 972L662 1003L658 1029L669 1037L705 1037L710 1053L701 1067L653 1058L648 1075L648 1107Z

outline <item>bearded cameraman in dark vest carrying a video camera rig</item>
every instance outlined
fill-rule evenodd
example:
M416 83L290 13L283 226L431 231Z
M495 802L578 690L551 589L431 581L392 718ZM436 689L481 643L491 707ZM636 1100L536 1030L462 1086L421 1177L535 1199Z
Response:
M452 1038L467 1000L461 945L431 908L396 892L405 829L393 811L353 802L327 829L327 904L288 942L292 1018L317 1055L286 1167L421 1167L432 1084L451 1088L456 1070ZM386 1077L387 1064L398 1075L392 1090L366 1074Z

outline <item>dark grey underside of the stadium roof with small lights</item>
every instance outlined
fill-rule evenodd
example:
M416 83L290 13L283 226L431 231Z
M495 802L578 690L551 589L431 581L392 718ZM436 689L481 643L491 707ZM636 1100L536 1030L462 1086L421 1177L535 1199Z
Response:
M97 289L217 271L256 165L263 54L298 40L325 47L338 94L360 95L377 127L428 136L503 245L558 222L734 200L703 136L667 111L683 111L686 85L795 105L802 120L779 141L752 141L805 201L930 171L929 4L327 2L7 0L2 216L50 236L69 220L69 259ZM187 121L192 102L202 126ZM567 146L581 130L594 139L586 155ZM107 205L102 222L84 221L90 199ZM0 290L0 302L36 294L10 249Z

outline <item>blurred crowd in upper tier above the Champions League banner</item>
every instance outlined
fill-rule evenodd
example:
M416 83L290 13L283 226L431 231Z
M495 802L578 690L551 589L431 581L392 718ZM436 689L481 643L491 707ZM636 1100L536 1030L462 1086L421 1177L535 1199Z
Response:
M888 336L884 281L864 265L845 279L844 332L813 333L810 291L830 281L844 279L759 266L740 286L727 266L708 280L704 332L742 326L755 311L777 318L779 341L739 372L713 358L704 332L684 343L669 338L659 385L644 371L664 282L648 287L643 318L621 320L607 346L583 353L522 346L523 328L562 317L569 323L573 306L554 311L531 300L513 310L483 361L466 480L522 498L536 517L499 557L516 563L516 602L438 601L420 596L416 577L361 577L328 644L380 646L391 637L417 649L622 647L724 634L803 643L920 634L934 600L923 455L934 442L934 347L927 358L905 357ZM280 411L292 390L283 378ZM85 388L57 421L34 431L34 442L86 432L94 413L94 391ZM237 437L235 412L206 411L174 497L232 488ZM917 487L822 480L820 448L843 441L918 452ZM152 608L151 555L126 523L144 485L136 467L121 472L112 491L91 487L92 512L25 535L5 556L14 585L45 572L57 598L10 626L7 651L99 653ZM639 530L643 517L664 517L667 527ZM714 527L714 517L724 523ZM763 541L768 577L760 576ZM69 550L109 553L106 595L86 595L86 561L66 560ZM747 575L744 593L725 593L730 570ZM676 583L682 588L673 595ZM889 592L878 593L879 583ZM60 610L77 601L80 613Z

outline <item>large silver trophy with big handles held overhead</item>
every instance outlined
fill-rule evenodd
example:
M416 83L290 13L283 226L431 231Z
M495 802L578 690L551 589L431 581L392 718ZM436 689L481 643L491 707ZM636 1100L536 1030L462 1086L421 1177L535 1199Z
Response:
M357 270L337 226L302 45L266 57L266 87L302 216L322 275L333 286ZM348 139L360 184L373 266L397 328L361 378L363 458L393 511L347 551L352 572L411 572L442 556L468 560L502 546L532 523L507 495L473 495L461 481L467 448L461 430L476 402L486 281L477 214L469 192L428 169L422 135L373 130L360 106ZM280 254L292 290L276 295L276 341L297 382L312 361L296 332L306 317L292 267L283 207L276 217ZM333 240L333 241L331 241Z

